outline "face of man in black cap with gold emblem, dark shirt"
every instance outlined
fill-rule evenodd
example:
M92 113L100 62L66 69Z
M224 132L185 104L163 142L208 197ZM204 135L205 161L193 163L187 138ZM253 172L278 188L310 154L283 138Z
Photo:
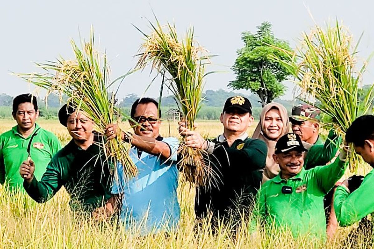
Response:
M238 108L229 108L221 113L221 123L225 130L243 133L253 123L253 117L249 112Z

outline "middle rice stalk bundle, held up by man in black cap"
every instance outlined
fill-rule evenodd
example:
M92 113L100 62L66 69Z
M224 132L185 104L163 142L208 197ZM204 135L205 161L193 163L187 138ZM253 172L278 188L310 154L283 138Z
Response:
M208 51L194 40L193 28L188 29L186 37L180 40L174 25L168 23L162 27L158 21L156 25L150 24L153 32L150 35L142 32L145 41L140 47L140 58L135 68L144 68L151 63L152 69L159 74L169 74L170 78L165 83L180 104L186 127L194 130L203 101L204 77L209 74L205 73L205 65L210 63L206 55ZM212 168L204 150L181 143L178 153L182 158L181 170L188 182L196 186L212 183Z

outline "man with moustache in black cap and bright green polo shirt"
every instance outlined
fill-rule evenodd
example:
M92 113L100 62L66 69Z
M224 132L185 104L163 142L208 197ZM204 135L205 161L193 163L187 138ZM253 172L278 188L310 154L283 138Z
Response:
M340 153L332 164L306 170L304 148L294 133L279 138L274 160L281 172L261 186L257 196L255 217L291 230L294 237L326 237L323 199L346 169L346 154ZM254 224L252 223L252 229Z

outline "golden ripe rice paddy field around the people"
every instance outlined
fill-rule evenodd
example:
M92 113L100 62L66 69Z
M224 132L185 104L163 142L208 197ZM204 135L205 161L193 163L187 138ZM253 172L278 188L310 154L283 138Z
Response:
M70 140L65 127L57 120L38 121L46 130L52 131L64 145ZM15 121L0 120L0 132L9 130ZM254 124L248 129L251 135ZM198 130L215 137L222 133L219 121L197 121ZM128 128L128 126L123 127ZM162 136L177 136L177 124L165 122L161 128ZM361 165L358 173L370 170ZM353 173L347 172L346 176ZM209 228L209 220L203 221L201 228L195 228L193 200L194 190L180 188L181 221L179 229L173 233L157 233L140 236L136 227L124 230L116 220L96 222L90 217L74 214L69 206L69 197L60 190L45 204L37 204L23 192L10 194L0 189L0 248L370 248L371 236L357 234L354 242L345 238L355 229L338 228L334 239L327 243L309 241L305 238L293 239L291 234L259 228L257 233L249 234L247 224L243 223L235 235L230 227L220 225L215 233Z

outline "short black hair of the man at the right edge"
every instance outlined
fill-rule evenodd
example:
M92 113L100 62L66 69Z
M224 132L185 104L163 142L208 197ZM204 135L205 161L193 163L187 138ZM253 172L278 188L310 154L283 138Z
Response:
M363 115L355 119L346 132L347 143L364 146L365 140L374 140L374 116Z

